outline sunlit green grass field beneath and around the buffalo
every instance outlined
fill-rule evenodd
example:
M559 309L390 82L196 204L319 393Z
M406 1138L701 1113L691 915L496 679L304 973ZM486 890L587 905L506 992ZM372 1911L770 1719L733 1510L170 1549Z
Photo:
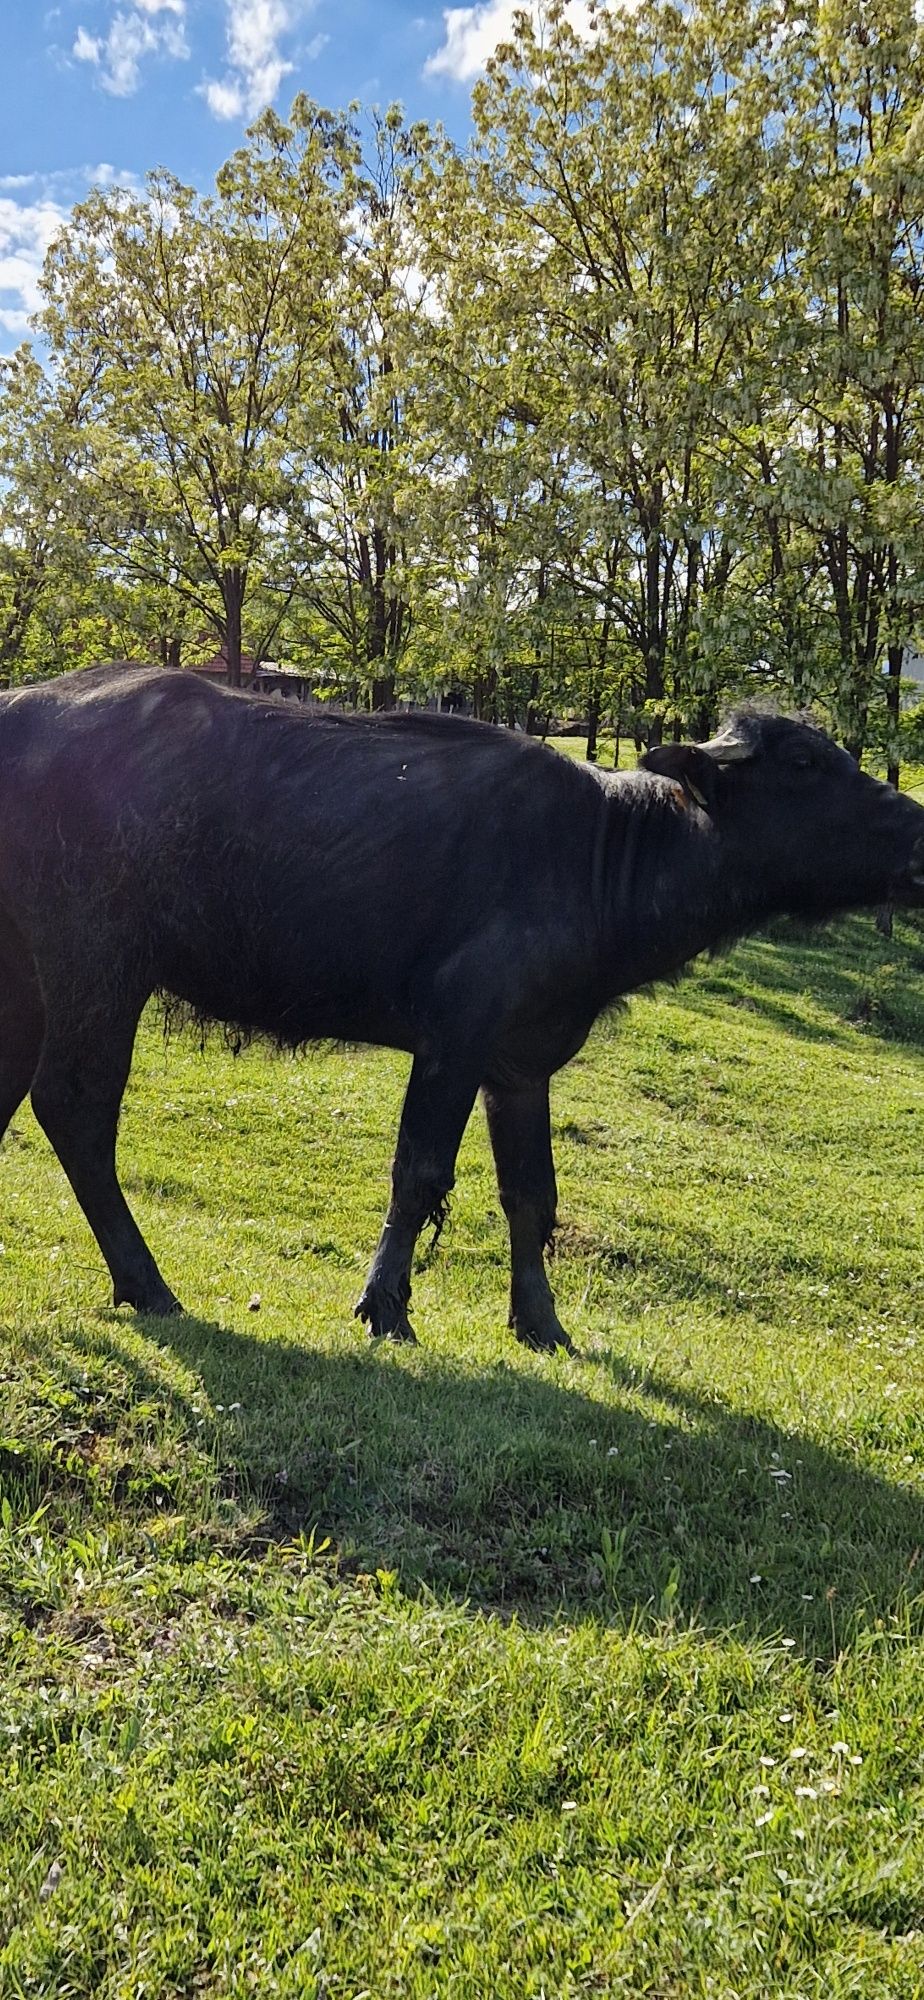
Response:
M406 1062L146 1022L140 1322L0 1152L0 1994L924 1994L924 928L780 926L482 1114L352 1320ZM192 1316L194 1314L194 1316Z

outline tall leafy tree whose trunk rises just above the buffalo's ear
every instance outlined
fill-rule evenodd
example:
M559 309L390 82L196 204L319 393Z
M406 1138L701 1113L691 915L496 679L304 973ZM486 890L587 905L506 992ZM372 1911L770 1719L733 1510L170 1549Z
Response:
M472 162L446 174L448 310L474 300L498 328L568 456L586 534L568 562L598 578L602 632L632 640L650 740L718 692L690 660L734 560L716 406L766 282L770 108L746 6L600 10L580 40L552 0L538 26L516 16Z

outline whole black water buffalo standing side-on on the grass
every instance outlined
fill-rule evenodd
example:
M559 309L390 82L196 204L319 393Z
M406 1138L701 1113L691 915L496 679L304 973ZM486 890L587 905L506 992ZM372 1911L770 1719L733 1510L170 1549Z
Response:
M510 1324L568 1346L548 1078L600 1010L776 912L924 902L924 808L806 722L738 712L642 762L602 776L478 722L306 714L158 668L0 696L0 1134L30 1090L116 1304L178 1310L116 1178L162 990L280 1042L412 1054L372 1334L414 1338L414 1244L482 1090Z

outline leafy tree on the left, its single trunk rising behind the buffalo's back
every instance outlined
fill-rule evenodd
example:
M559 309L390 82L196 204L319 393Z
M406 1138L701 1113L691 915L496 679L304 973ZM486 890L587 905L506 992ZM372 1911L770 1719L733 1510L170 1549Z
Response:
M170 174L96 190L52 246L42 334L64 382L96 360L84 512L110 570L210 626L240 684L316 560L312 424L324 404L352 188L342 122L272 112L202 198Z

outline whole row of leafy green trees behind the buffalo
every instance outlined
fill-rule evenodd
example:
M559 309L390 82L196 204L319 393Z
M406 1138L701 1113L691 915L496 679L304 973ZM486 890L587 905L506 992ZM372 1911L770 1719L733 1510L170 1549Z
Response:
M658 732L772 686L896 736L922 94L906 0L654 0L586 38L554 0L466 152L302 96L212 194L96 190L48 370L0 392L0 672L128 628L322 656L354 700Z

